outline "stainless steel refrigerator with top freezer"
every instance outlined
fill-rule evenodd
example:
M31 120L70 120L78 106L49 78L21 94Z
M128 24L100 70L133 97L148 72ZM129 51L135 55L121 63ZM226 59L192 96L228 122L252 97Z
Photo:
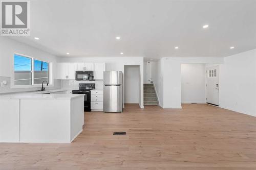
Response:
M122 71L104 71L103 75L103 111L122 112L123 109L123 73Z

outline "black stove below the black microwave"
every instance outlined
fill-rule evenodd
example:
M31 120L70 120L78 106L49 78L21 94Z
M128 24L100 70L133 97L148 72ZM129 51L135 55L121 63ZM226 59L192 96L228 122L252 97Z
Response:
M91 90L95 89L95 83L79 83L79 90L72 90L73 94L84 94L84 111L91 111Z

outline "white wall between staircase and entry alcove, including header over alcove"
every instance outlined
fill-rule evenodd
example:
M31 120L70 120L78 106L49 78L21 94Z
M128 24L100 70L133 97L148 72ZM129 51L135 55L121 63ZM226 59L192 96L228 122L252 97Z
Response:
M181 108L181 64L223 63L222 57L164 57L160 61L160 106Z

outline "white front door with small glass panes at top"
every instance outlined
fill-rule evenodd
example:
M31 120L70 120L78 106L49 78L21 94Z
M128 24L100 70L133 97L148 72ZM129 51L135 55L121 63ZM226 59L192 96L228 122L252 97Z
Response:
M209 67L206 70L206 103L219 106L219 66Z

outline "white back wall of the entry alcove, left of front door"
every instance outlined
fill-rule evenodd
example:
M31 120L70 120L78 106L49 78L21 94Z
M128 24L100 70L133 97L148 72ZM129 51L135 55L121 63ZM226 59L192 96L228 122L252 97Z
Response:
M181 64L181 103L205 100L205 64Z

